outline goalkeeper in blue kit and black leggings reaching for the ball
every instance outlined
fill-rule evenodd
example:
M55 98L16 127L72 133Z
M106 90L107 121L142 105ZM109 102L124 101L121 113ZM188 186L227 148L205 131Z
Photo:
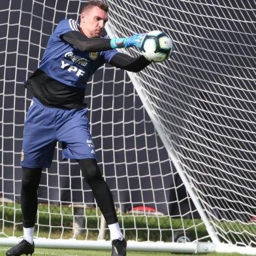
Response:
M108 5L88 1L80 24L62 20L50 37L39 69L25 82L33 93L27 112L22 145L21 207L24 240L6 255L32 254L37 214L37 189L42 168L50 167L56 142L62 142L63 159L76 159L82 175L106 223L112 240L112 256L126 255L126 242L118 225L112 194L95 155L84 104L86 83L104 63L138 72L150 64L144 56L130 57L116 48L140 48L144 34L123 39L101 37L108 20Z

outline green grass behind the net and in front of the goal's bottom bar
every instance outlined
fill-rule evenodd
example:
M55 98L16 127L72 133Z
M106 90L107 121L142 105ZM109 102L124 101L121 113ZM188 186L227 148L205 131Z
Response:
M54 205L39 205L38 222L36 225L35 236L44 238L62 238L69 239L73 238L72 234L72 222L74 216L74 209L72 207L66 206L54 206ZM0 205L0 237L16 236L20 237L23 235L22 231L22 214L20 210L20 204L18 203L5 203L5 205ZM97 240L99 236L99 230L97 226L99 225L101 212L95 208L86 208L84 212L84 217L86 219L83 234L76 237L77 240ZM200 238L200 242L208 241L210 238L206 232L204 224L200 219L174 219L168 216L136 216L131 214L121 214L119 217L120 227L125 230L125 238L127 240L137 240L137 241L157 241L161 240L163 242L172 241L172 231L182 230L183 227L186 229L189 236L193 239L197 237ZM14 223L16 223L14 225ZM255 223L246 223L241 225L241 223L229 223L227 221L222 221L217 223L219 229L226 231L226 234L230 236L231 240L242 240L243 236L239 234L234 234L234 232L228 233L227 231L242 232L248 231L248 239L251 241L256 240L256 225ZM50 228L51 227L51 228ZM136 227L136 230L135 230ZM2 229L3 228L3 229ZM204 239L201 239L204 238ZM110 240L110 235L108 229L106 229L106 240ZM5 255L6 248L0 248L0 256ZM35 255L110 255L109 251L89 251L89 250L74 250L74 249L41 249L37 248ZM138 252L129 251L128 256L133 255L180 255L185 254L172 254L172 253L155 253L155 252ZM210 253L209 256L220 256L220 255L232 255L236 254L221 254L221 253ZM33 255L34 256L34 255Z

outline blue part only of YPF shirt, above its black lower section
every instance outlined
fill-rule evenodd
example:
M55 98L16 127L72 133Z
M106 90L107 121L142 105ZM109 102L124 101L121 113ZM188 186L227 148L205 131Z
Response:
M39 69L67 86L85 88L89 77L118 51L81 52L61 38L69 31L79 31L78 22L61 20L48 41Z

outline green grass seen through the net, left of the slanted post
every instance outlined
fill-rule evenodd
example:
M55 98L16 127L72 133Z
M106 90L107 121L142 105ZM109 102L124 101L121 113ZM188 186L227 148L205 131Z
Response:
M5 236L22 236L22 214L20 204L5 203L5 207L0 206L0 216L3 215L5 223L0 220L0 227L4 225L3 232ZM38 223L35 229L35 235L45 238L63 238L69 239L72 236L72 222L74 212L67 206L48 206L39 205ZM99 235L97 226L101 218L101 212L95 208L87 208L84 214L86 216L86 229L83 234L76 237L78 240L95 240ZM170 219L168 216L133 216L131 214L122 214L119 217L121 229L125 229L125 238L127 240L137 241L157 241L161 236L163 242L170 242L173 230L187 229L187 233L192 239L196 237L207 236L204 224L200 219ZM16 223L14 226L13 223ZM136 231L135 231L136 227ZM1 234L0 234L1 236ZM2 235L4 236L4 235ZM109 240L109 232L106 229L106 240Z

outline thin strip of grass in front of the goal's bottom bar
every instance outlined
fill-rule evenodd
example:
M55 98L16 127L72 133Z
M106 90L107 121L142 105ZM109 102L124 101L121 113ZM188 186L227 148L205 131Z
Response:
M0 247L0 256L5 255L6 247ZM37 255L54 255L54 256L110 256L110 251L89 251L89 250L74 250L74 249L42 249L37 248L33 256ZM144 255L155 255L155 256L189 256L191 254L173 254L173 253L155 253L155 252L143 252L143 251L129 251L127 256L144 256ZM201 256L238 256L237 253L224 254L224 253L208 253L200 254Z

